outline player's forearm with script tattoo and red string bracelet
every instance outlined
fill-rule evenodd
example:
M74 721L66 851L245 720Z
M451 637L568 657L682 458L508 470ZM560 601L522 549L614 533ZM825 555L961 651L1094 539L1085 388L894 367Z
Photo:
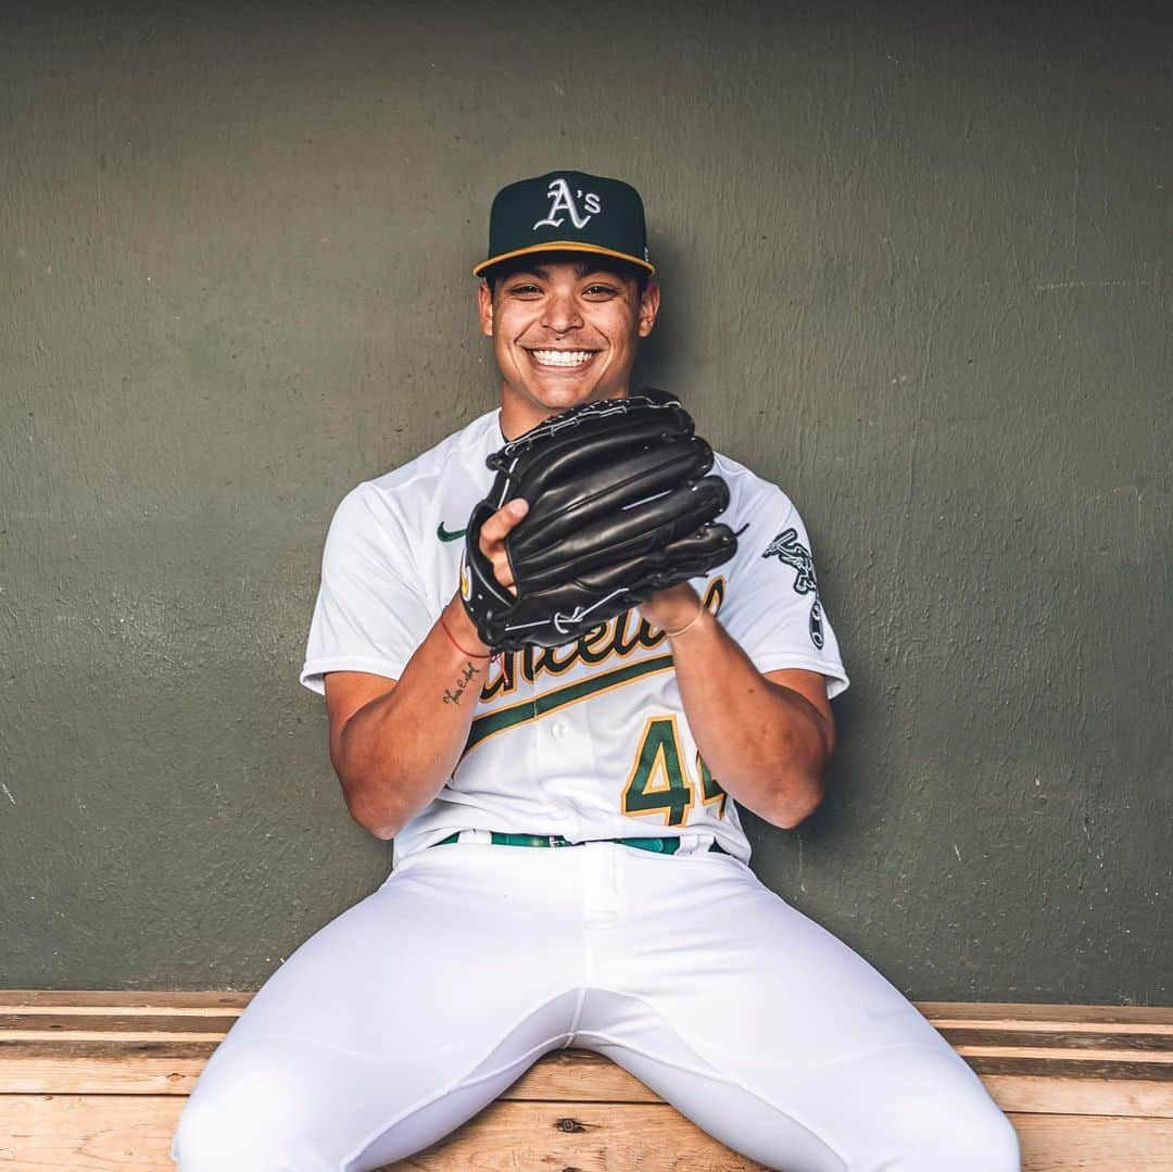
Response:
M459 599L443 617L461 648L487 651ZM443 788L468 740L488 665L457 650L438 622L395 686L346 723L334 770L351 814L372 834L394 838Z

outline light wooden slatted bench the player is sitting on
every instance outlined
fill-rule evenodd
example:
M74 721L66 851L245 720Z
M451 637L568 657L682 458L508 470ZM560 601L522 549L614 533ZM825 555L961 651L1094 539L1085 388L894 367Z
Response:
M250 996L0 990L0 1170L170 1172L168 1147L185 1096ZM1009 1115L1024 1168L1173 1168L1173 1009L917 1008ZM565 1050L395 1167L740 1172L760 1165L608 1059Z

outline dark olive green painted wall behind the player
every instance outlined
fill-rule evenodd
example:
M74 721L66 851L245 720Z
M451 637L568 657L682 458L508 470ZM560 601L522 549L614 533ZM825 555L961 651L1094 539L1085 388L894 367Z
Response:
M297 683L326 524L494 405L488 203L570 165L853 677L758 874L913 997L1169 1002L1168 20L110 7L0 45L0 984L253 988L386 875Z

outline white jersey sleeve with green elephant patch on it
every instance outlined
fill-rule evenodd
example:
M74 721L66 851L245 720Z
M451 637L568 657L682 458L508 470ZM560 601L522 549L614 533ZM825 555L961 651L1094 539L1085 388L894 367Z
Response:
M760 672L818 671L827 677L827 698L834 699L849 679L819 597L811 538L786 494L772 485L764 488L738 538L720 621Z

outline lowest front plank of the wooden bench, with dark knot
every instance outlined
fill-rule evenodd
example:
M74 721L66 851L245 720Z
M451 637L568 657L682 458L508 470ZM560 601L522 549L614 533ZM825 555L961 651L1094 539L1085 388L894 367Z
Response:
M4 1172L174 1172L174 1096L0 1098ZM1173 1122L1010 1116L1024 1172L1168 1172ZM384 1172L760 1172L667 1105L590 1106L499 1100L440 1144Z

